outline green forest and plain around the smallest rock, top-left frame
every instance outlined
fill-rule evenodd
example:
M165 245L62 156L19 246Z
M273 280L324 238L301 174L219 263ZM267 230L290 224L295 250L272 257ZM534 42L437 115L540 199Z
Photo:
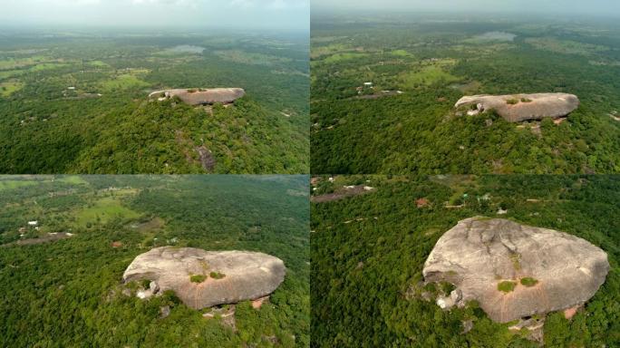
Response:
M309 172L303 35L25 33L0 37L0 172ZM147 98L194 87L246 96Z

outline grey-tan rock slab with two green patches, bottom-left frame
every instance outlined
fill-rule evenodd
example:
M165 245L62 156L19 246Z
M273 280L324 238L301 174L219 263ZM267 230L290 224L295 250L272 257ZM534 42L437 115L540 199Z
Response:
M285 274L282 260L263 253L156 247L136 256L122 278L151 281L140 297L173 290L189 307L200 309L269 295Z

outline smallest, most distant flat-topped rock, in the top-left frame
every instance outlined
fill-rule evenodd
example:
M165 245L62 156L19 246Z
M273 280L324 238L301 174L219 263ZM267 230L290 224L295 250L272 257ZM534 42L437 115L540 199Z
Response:
M246 91L242 88L184 88L151 92L149 97L158 97L159 101L179 97L181 101L189 105L207 105L216 102L229 104L244 95Z

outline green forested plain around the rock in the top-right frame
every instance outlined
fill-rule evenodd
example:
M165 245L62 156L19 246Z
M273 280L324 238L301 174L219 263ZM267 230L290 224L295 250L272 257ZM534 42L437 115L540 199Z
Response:
M312 172L617 173L619 37L602 19L316 16ZM463 95L518 92L581 104L558 124L453 109Z

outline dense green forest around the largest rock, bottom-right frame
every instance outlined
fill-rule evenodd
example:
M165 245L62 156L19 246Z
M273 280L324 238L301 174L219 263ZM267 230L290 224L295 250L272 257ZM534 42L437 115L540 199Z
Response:
M446 312L415 295L441 234L463 218L499 217L499 208L508 210L503 218L565 231L607 253L605 284L571 320L547 314L545 345L620 345L620 177L344 176L324 177L313 190L323 196L348 185L374 190L312 204L312 346L538 347L475 304ZM469 333L464 320L473 321Z

